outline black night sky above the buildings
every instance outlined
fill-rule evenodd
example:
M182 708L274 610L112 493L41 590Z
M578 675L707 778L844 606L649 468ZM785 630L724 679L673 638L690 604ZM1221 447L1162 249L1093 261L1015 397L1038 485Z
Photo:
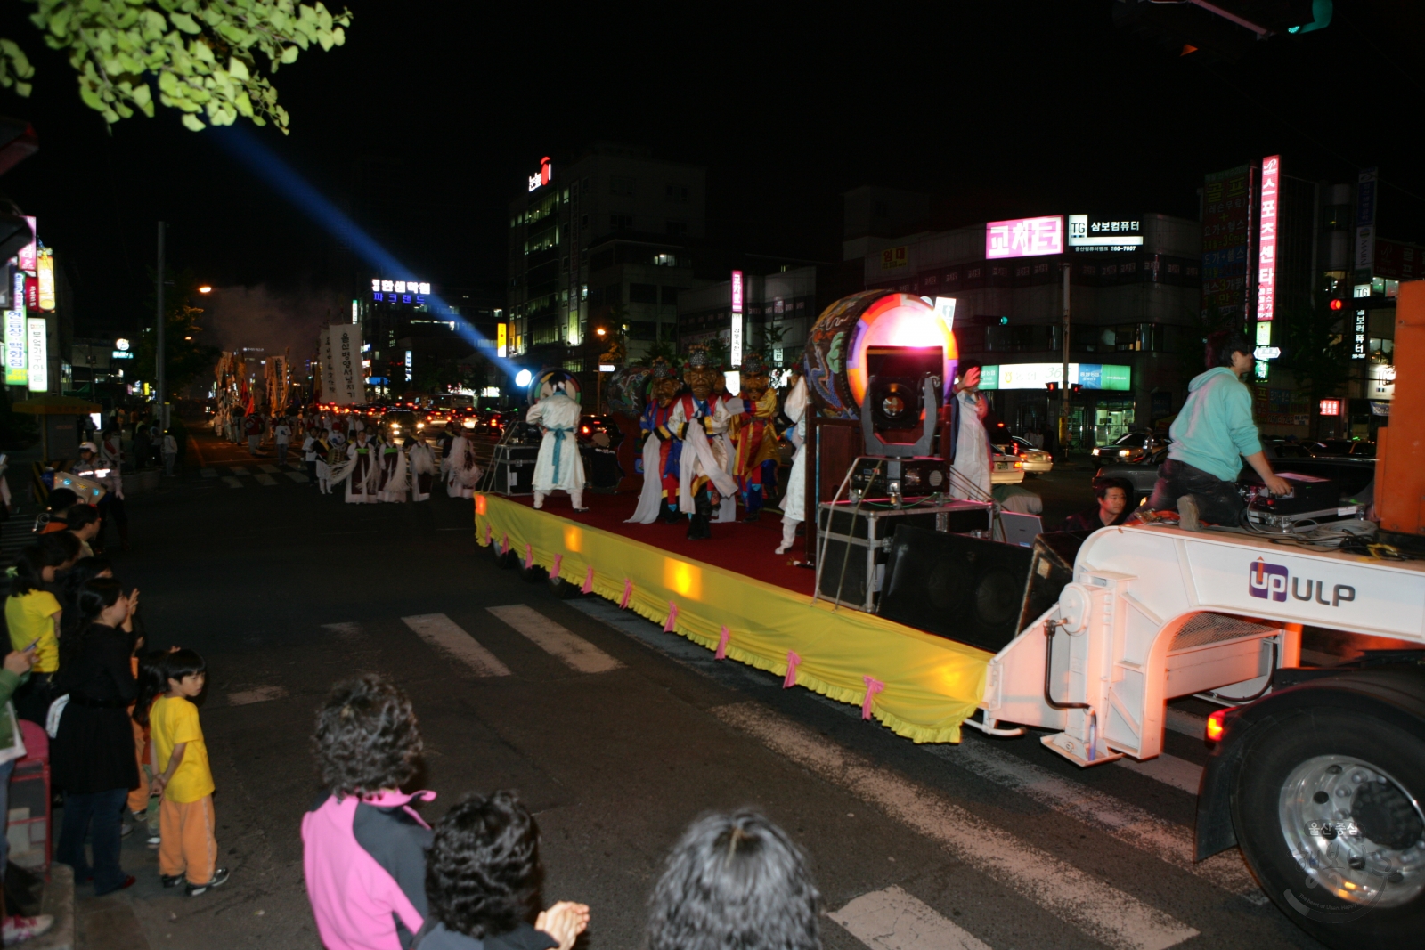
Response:
M1307 178L1379 165L1379 234L1425 242L1425 162L1405 144L1425 4L1338 0L1330 28L1235 64L1116 28L1113 6L358 1L345 47L274 77L291 137L244 132L447 286L499 289L509 199L542 155L557 175L594 140L705 165L710 238L754 252L839 259L839 192L861 184L932 192L938 226L1196 218L1204 172L1274 152ZM30 120L41 150L0 191L71 268L78 335L151 320L160 218L172 265L269 303L251 329L232 312L239 336L279 333L288 305L294 319L339 306L328 228L172 110L107 132L28 9L4 4L0 36L28 51L36 93L0 91L0 111Z

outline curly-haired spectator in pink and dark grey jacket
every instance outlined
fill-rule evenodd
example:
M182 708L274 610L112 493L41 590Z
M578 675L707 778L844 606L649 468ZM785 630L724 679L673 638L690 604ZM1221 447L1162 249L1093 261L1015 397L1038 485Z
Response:
M376 675L338 684L312 735L325 790L302 816L302 867L326 950L410 950L426 919L430 826L406 795L420 758L410 699Z

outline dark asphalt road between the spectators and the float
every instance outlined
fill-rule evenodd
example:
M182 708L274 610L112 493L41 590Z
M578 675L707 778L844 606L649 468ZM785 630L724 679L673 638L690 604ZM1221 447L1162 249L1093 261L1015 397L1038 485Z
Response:
M346 506L291 467L256 467L271 459L234 474L245 453L200 449L209 477L130 500L117 567L142 590L152 641L208 659L202 724L232 879L198 899L162 890L135 835L124 862L140 883L81 900L88 950L319 946L298 832L318 792L308 736L331 684L359 671L415 701L419 788L439 793L428 819L467 790L519 789L543 832L546 900L593 909L589 950L640 946L670 845L698 813L741 805L809 853L828 947L1317 946L1235 852L1188 859L1187 789L1206 759L1191 704L1171 716L1170 755L1140 766L1079 771L1035 736L972 731L916 746L607 601L499 570L469 501ZM1066 499L1087 494L1089 473L1063 477ZM509 675L482 675L489 657Z

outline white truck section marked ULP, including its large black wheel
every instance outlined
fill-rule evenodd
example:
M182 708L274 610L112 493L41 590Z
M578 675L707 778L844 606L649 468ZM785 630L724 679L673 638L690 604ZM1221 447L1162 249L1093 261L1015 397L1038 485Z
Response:
M1301 668L1304 625L1405 642ZM1097 531L1057 602L990 662L978 725L1053 729L1043 743L1082 766L1151 759L1167 702L1194 695L1221 705L1197 859L1238 845L1271 900L1328 946L1421 946L1425 560Z

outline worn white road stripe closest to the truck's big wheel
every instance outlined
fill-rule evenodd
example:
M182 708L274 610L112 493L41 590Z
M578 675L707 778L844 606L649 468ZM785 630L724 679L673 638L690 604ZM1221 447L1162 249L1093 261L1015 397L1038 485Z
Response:
M982 779L1013 789L1040 805L1093 826L1096 830L1153 855L1174 867L1196 875L1218 887L1241 894L1254 904L1267 897L1247 872L1235 849L1194 862L1193 832L1183 825L1159 818L1120 798L1060 778L1049 769L996 749L985 742L966 739L959 745L922 746Z

